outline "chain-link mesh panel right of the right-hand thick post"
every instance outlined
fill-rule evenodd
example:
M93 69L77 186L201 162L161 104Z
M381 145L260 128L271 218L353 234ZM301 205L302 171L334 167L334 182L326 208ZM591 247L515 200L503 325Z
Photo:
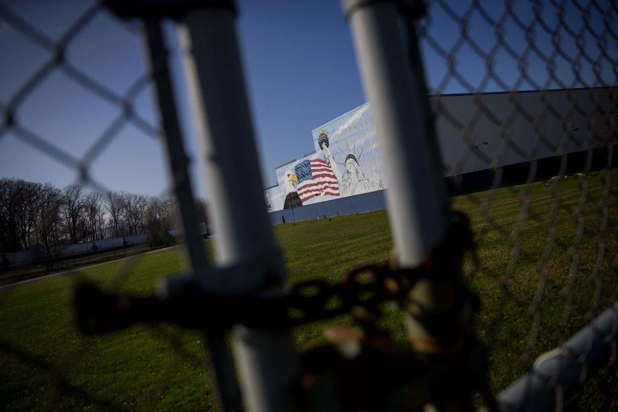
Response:
M455 192L489 188L452 207L476 229L465 272L486 291L479 330L496 392L618 297L617 22L615 2L433 0L418 25L438 134L465 147L443 148L445 173ZM441 96L453 86L470 94L459 107ZM471 163L491 172L465 174ZM583 382L586 356L578 365L569 373ZM612 366L568 405L616 408L615 388Z

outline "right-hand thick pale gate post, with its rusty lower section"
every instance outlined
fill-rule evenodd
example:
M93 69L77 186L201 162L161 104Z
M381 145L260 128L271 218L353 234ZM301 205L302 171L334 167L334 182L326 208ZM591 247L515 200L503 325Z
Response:
M380 153L387 159L386 203L397 263L404 268L416 267L426 263L432 248L446 240L449 225L429 96L416 33L409 20L409 54L401 32L400 12L418 13L413 7L421 2L342 0L342 4L352 29L363 88L371 103ZM468 337L460 331L472 327L473 313L472 299L459 306L463 290L459 271L415 282L408 295L405 321L417 353L440 356L463 350ZM420 319L425 321L421 323ZM454 398L445 393L433 401L440 410L472 408L470 393L457 393L460 395Z

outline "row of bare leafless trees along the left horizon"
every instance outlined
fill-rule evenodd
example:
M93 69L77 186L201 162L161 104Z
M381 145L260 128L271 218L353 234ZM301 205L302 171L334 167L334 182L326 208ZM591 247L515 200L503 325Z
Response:
M62 189L52 183L0 179L0 253L95 242L179 227L176 201L127 191ZM198 221L207 222L206 200L195 199Z

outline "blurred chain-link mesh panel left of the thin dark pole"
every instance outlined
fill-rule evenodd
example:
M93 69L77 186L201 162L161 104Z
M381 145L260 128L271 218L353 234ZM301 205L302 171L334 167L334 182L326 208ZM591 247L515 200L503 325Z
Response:
M0 146L12 145L11 153L21 161L31 162L32 169L42 169L43 175L44 168L49 167L54 169L54 174L69 180L66 174L69 170L74 176L70 187L82 193L91 190L110 202L111 196L143 197L118 191L114 186L119 176L121 179L137 176L139 180L140 174L160 177L159 184L150 188L160 195L150 198L161 201L171 198L175 185L182 180L167 183L166 187L166 182L173 179L166 179L161 172L166 169L161 159L165 149L159 147L164 143L164 133L157 125L153 114L155 104L148 94L156 70L163 62L153 62L152 70L145 69L146 64L138 58L141 43L138 28L117 19L103 3L61 2L57 7L64 13L61 21L28 10L27 5L0 3L2 54L7 62L2 76L12 80L2 83ZM51 23L46 17L52 17ZM121 38L125 42L124 48L106 43L101 30L112 30L114 40ZM110 65L109 60L114 64ZM101 62L104 70L113 66L115 72L101 70L97 65ZM70 101L75 96L83 106ZM45 119L35 119L32 112L44 114ZM59 120L63 122L62 127L57 126ZM80 137L68 138L75 135ZM141 166L132 167L130 159ZM102 163L116 165L118 171L101 169ZM56 170L60 169L58 164L66 170ZM185 179L188 176L185 169L173 170L169 175ZM8 211L3 208L2 214ZM122 218L111 211L107 213L111 213L109 222L114 217L117 221ZM174 210L171 214L175 220ZM4 218L9 217L5 214ZM162 235L152 245L151 236L137 233L139 225L135 224L135 232L130 225L124 232L116 227L115 234L109 227L111 234L108 234L119 236L117 240L121 243L106 242L104 236L95 236L87 243L88 248L66 251L69 239L51 247L48 258L35 257L22 266L16 266L23 262L15 258L3 259L0 397L4 407L9 410L173 408L173 405L164 406L169 401L163 395L169 390L193 397L191 409L213 407L205 372L204 339L200 334L187 334L170 326L137 326L121 336L91 339L74 329L67 293L79 282L96 279L102 288L148 294L154 291L161 264L168 267L169 273L185 271L186 265L177 248L159 252L159 262L149 264L146 251L175 242L163 239ZM2 257L6 258L4 254ZM46 288L44 296L33 298L32 291L23 287L27 288L28 282L41 275L58 277ZM30 316L38 317L38 322L28 326ZM111 357L105 354L106 350L112 353ZM199 393L194 393L196 387Z

